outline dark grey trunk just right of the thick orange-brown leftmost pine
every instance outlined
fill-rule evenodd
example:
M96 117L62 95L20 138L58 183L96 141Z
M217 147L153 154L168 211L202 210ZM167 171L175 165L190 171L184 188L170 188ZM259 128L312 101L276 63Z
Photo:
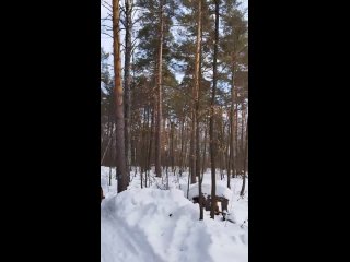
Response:
M131 11L132 0L125 0L125 67L124 67L124 92L125 92L125 156L127 169L130 170L131 146L130 146L130 120L131 120ZM130 182L130 177L128 177Z

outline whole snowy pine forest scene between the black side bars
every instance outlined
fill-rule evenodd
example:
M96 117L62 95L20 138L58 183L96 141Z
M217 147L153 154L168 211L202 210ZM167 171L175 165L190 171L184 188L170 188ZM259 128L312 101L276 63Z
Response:
M101 5L102 261L247 261L247 1Z

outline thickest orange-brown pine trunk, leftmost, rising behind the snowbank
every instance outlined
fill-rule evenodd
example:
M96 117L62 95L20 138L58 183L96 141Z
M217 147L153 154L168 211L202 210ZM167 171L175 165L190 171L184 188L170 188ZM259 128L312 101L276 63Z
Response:
M116 165L118 178L118 193L128 187L128 174L125 157L125 119L121 86L121 62L119 43L119 1L113 0L113 52L115 74L115 112L116 112Z

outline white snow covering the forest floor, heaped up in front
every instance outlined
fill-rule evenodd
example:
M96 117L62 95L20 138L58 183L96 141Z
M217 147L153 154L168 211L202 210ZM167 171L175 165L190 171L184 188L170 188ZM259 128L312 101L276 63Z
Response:
M108 167L101 167L101 186L106 199L101 204L102 262L245 262L248 261L248 181L242 199L242 179L220 181L218 192L229 196L229 212L235 224L221 216L199 221L199 205L187 195L187 174L170 174L170 190L165 176L154 178L152 184L140 188L140 177L131 172L128 190L117 194L115 178L108 186ZM113 177L115 172L113 171ZM218 172L219 175L219 172ZM203 184L210 184L210 171ZM190 186L190 194L195 193ZM198 188L197 188L198 189Z

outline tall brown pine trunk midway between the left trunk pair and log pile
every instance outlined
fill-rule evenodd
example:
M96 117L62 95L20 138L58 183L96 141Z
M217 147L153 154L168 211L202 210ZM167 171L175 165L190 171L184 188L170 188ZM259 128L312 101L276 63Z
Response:
M159 58L158 58L158 121L156 121L156 139L155 139L155 174L156 177L162 177L162 66L163 66L163 0L160 4L160 46L159 46Z

